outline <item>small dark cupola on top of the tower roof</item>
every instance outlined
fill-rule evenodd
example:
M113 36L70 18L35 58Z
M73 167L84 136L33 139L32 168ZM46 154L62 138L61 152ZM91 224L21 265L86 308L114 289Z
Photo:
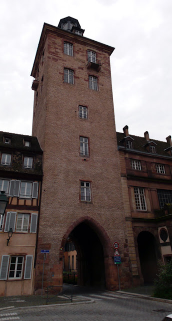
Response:
M84 30L80 28L78 20L72 17L60 19L58 28L75 33L79 36L83 36L84 33Z

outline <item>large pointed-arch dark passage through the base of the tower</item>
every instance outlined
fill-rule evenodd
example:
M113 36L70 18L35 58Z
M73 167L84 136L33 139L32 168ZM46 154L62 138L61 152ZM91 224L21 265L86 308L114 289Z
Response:
M103 228L93 219L84 218L68 229L62 246L68 237L77 251L77 284L109 288L110 276L115 278L114 270L110 269L113 254Z

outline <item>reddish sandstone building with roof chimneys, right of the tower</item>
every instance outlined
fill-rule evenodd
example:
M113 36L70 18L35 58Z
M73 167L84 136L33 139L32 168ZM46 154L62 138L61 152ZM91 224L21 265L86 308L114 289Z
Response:
M172 143L117 132L129 256L134 284L152 283L157 261L172 257Z

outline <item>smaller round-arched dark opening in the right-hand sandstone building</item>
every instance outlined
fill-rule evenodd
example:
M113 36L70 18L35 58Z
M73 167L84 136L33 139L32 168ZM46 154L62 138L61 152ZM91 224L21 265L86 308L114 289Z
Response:
M138 234L137 245L144 283L153 283L157 272L155 238L150 232L142 231Z

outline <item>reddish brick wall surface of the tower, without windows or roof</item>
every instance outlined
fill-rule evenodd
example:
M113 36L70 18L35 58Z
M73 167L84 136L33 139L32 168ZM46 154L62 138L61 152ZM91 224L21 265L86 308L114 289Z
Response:
M39 254L40 249L50 250L45 261L44 285L60 284L60 246L75 222L84 220L101 234L106 287L118 288L112 247L115 241L119 243L122 259L119 268L121 286L128 286L130 282L109 53L93 41L82 43L81 38L67 32L63 32L63 38L61 33L49 33L43 47L44 61L39 63L38 98L36 104L35 92L32 130L43 149L36 289L41 286L43 255ZM73 44L73 57L63 53L64 41ZM96 58L101 61L99 72L86 67L88 49L96 52ZM74 71L73 85L64 83L64 68ZM97 77L98 91L88 88L88 75ZM87 106L88 119L78 117L78 105ZM89 138L88 157L79 153L79 136ZM91 203L79 200L80 180L91 182Z

